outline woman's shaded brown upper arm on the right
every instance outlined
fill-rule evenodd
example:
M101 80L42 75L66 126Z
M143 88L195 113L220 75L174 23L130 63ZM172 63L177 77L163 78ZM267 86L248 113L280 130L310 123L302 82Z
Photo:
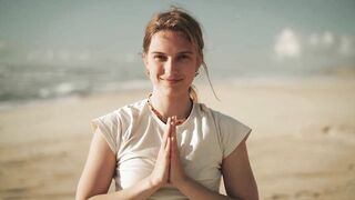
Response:
M251 169L245 139L222 161L225 191L242 199L258 199L256 181Z

